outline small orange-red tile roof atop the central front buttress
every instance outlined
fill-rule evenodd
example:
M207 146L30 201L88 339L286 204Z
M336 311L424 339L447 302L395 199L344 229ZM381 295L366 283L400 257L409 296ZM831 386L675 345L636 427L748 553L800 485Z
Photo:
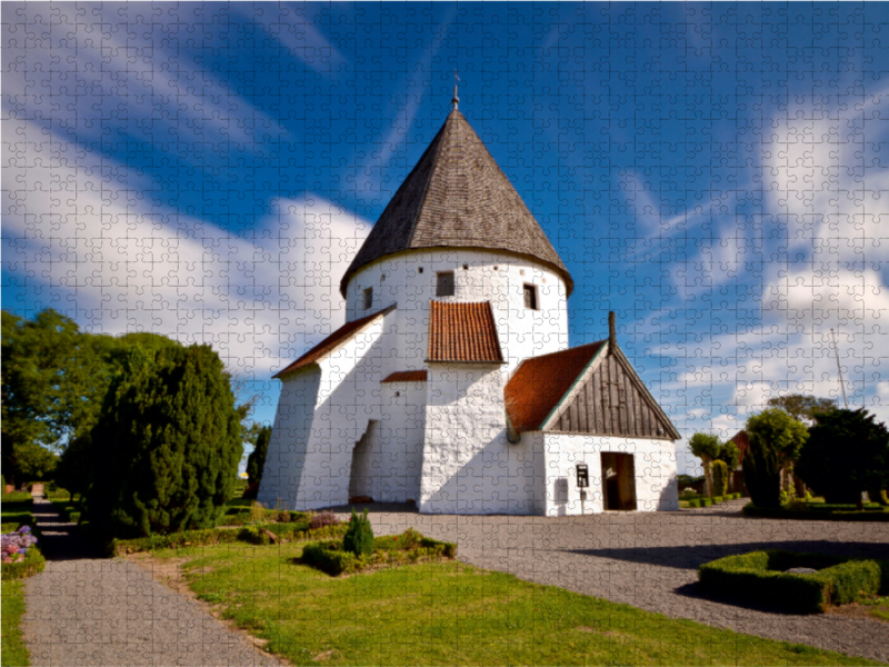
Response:
M428 360L502 364L491 305L430 301Z

